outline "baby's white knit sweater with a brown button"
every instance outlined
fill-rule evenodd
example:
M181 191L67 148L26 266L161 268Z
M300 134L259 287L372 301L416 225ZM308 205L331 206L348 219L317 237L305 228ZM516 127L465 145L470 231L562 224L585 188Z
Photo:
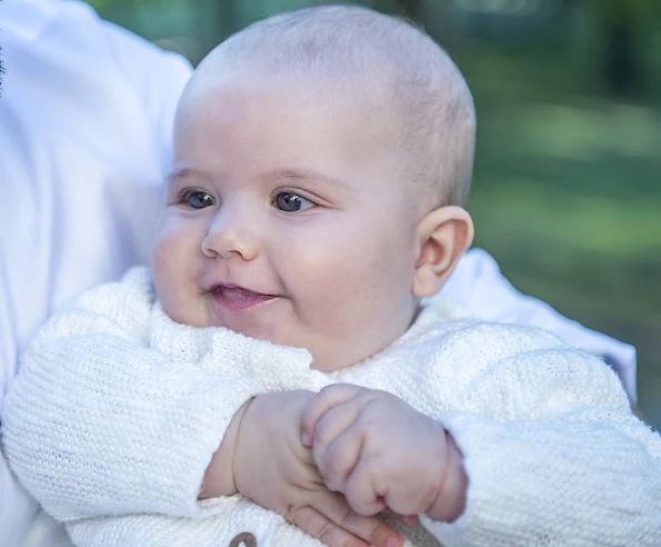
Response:
M661 546L661 438L607 366L553 336L427 308L367 361L331 375L310 364L302 349L174 324L137 268L37 336L6 401L3 447L77 545L224 547L242 531L260 547L319 545L239 495L197 496L251 396L344 381L441 420L464 455L464 514L422 518L410 545Z

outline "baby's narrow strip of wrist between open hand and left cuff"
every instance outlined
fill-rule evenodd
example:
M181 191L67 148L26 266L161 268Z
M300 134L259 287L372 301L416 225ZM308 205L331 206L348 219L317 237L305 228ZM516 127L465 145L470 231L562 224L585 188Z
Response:
M211 457L211 461L204 471L198 499L232 496L238 493L237 481L234 480L234 459L241 420L250 402L252 402L252 399L244 402L232 417L218 450Z

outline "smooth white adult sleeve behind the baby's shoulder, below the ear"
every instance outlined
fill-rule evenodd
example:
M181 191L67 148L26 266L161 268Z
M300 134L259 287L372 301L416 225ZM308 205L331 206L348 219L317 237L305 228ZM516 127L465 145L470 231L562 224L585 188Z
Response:
M443 290L432 299L457 305L471 318L539 327L600 357L615 370L632 402L637 401L635 348L568 319L548 304L519 292L493 257L471 249L459 261Z

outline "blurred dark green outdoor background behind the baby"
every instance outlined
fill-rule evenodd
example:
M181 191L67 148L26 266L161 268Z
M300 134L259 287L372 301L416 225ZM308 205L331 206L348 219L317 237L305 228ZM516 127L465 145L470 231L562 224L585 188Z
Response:
M93 0L107 19L199 61L306 0ZM661 426L661 1L361 2L423 24L478 109L477 245L522 291L633 344L639 402Z

